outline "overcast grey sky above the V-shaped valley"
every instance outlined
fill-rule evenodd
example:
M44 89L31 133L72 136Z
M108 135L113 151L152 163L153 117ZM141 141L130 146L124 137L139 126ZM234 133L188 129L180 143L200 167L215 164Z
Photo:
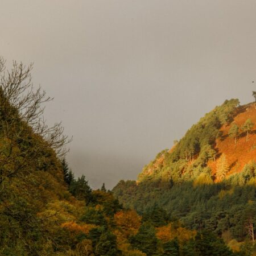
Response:
M34 62L93 187L135 179L226 98L253 101L255 0L0 3L0 55Z

